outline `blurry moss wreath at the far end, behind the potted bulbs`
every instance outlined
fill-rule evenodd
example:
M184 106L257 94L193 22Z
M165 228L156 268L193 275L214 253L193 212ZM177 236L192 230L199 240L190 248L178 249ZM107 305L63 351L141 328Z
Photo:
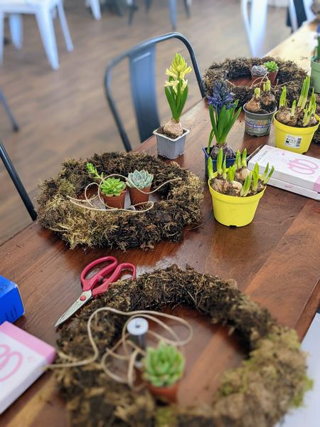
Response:
M228 87L235 93L235 99L239 100L239 105L243 106L250 100L255 88L247 85L234 85L230 80L242 77L251 78L251 68L253 65L262 65L268 60L275 60L279 71L277 74L278 84L272 88L272 92L279 102L282 92L282 85L287 86L287 100L291 104L293 100L299 100L302 83L306 77L306 71L299 67L292 60L283 60L272 56L265 58L235 58L226 59L222 63L213 63L203 75L203 83L206 88L206 94L212 95L213 83L215 80L225 80ZM311 93L311 90L310 90ZM320 113L320 95L316 94L317 109ZM317 130L312 139L316 144L320 144L320 129Z

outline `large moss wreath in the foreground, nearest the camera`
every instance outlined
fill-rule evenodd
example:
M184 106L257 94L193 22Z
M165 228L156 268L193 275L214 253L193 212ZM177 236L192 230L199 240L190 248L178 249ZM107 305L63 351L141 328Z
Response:
M212 322L231 327L250 349L241 366L223 374L210 406L158 406L148 391L137 394L107 377L100 365L58 371L60 391L68 402L73 426L132 427L270 427L293 406L302 404L309 389L305 355L297 333L281 327L270 313L238 290L234 280L181 270L176 265L118 281L92 300L78 317L60 330L58 346L75 359L92 355L87 320L100 307L118 310L162 310L194 307ZM92 337L100 352L121 334L123 317L100 312L92 322ZM57 360L64 363L65 359Z

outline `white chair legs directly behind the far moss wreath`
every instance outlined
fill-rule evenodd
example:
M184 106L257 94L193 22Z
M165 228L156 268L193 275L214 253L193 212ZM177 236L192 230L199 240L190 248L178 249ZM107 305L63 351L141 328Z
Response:
M264 56L265 31L267 28L267 0L251 0L250 19L249 0L241 0L242 18L252 56Z

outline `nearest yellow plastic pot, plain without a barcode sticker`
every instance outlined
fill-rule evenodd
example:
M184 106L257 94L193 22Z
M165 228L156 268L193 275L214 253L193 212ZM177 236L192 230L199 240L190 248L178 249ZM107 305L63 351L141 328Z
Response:
M216 176L217 174L214 174ZM224 226L243 227L250 224L255 216L255 211L265 189L254 196L235 197L218 193L208 185L212 197L213 215L215 219Z

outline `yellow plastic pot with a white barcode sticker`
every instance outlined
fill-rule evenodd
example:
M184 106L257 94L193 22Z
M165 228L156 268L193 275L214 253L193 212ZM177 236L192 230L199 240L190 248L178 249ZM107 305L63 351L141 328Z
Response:
M274 137L277 148L287 149L294 153L306 153L309 149L314 132L319 127L320 118L316 115L318 124L311 127L293 127L284 125L276 119L277 112L274 114Z

